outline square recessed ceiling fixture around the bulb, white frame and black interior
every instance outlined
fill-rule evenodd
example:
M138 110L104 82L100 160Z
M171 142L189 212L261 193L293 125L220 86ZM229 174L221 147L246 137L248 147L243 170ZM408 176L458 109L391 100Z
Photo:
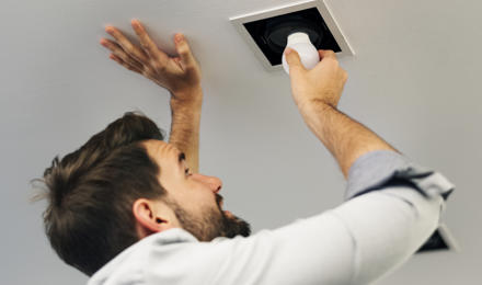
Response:
M355 54L323 0L290 3L229 20L269 71L282 69L288 36L295 33L307 34L315 49L332 49L338 57Z

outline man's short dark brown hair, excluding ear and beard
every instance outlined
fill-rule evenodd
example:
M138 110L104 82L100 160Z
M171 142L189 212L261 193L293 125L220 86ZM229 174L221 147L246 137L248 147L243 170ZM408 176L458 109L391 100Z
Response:
M162 198L160 169L140 144L163 140L148 117L126 113L44 172L45 232L68 264L92 275L138 241L133 203ZM38 198L38 197L37 197Z

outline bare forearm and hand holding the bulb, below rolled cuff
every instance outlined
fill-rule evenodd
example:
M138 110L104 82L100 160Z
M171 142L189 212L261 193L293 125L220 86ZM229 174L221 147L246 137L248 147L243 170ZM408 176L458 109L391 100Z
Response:
M332 50L319 50L321 62L306 70L296 50L287 55L291 93L313 134L337 160L345 178L357 158L372 150L393 150L374 132L336 107L347 73Z

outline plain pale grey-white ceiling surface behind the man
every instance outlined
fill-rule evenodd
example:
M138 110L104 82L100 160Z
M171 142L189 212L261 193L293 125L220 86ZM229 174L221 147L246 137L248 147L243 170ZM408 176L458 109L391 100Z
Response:
M223 180L226 206L254 231L342 202L344 180L303 125L283 71L266 72L229 18L279 0L2 0L0 128L2 284L83 284L49 249L28 181L124 112L168 129L169 92L125 70L99 41L142 21L174 55L182 32L203 69L200 170ZM482 159L482 2L326 0L356 57L340 109L457 185L445 223L459 253L413 258L377 284L477 284Z

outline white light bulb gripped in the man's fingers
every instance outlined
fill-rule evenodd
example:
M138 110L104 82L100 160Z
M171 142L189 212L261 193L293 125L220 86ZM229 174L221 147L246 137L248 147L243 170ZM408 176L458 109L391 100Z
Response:
M288 43L286 45L286 48L288 47L298 52L301 64L305 66L306 69L311 69L317 66L318 62L320 62L320 55L318 54L318 50L313 46L313 44L311 44L310 37L306 33L297 32L290 34L288 36ZM285 52L283 52L282 61L283 68L285 69L286 73L289 75L289 66L286 61Z

